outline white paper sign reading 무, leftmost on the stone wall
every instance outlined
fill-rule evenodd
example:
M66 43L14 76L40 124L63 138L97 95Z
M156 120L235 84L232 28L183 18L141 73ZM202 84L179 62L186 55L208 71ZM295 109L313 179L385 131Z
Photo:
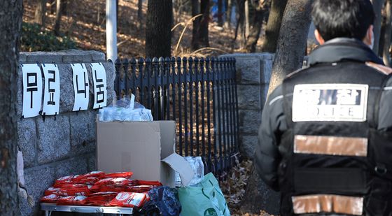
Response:
M38 64L22 64L23 117L39 115L42 102L42 73Z

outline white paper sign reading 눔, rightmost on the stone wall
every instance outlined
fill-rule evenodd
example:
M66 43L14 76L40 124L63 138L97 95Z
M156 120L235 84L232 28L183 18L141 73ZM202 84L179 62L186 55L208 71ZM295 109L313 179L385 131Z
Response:
M94 83L94 109L106 106L106 71L101 63L92 63L92 81Z

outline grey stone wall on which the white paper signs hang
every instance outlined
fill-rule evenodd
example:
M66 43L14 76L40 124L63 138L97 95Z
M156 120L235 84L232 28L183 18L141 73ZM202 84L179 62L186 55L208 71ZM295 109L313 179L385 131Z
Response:
M20 64L54 63L60 75L60 113L56 117L20 118L18 146L25 162L26 187L34 197L36 206L20 200L21 215L37 215L38 200L56 178L64 175L87 173L95 170L95 115L92 109L91 67L87 66L90 82L88 110L72 112L73 83L71 63L102 62L106 69L108 105L113 101L114 66L106 62L104 53L96 51L66 50L62 52L21 52ZM18 116L22 116L22 70L18 70Z

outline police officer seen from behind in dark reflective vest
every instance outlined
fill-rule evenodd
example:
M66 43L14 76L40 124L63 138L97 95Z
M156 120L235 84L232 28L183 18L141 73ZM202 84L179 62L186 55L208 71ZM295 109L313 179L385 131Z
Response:
M315 0L320 46L262 111L255 167L281 215L392 215L392 69L369 0Z

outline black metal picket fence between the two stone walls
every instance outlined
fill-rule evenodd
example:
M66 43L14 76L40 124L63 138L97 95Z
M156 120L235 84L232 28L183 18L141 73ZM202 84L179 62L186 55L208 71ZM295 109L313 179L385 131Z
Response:
M117 59L117 95L134 94L154 120L176 121L176 152L221 174L239 152L234 58Z

